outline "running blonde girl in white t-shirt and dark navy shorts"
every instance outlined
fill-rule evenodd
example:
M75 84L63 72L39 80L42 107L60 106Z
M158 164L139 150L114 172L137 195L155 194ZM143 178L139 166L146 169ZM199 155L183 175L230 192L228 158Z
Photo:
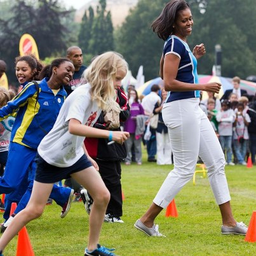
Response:
M128 65L123 57L114 52L99 55L86 69L84 76L88 83L79 86L65 100L55 125L37 149L37 170L30 201L26 208L15 216L1 237L0 254L23 226L43 213L53 184L72 177L83 185L93 198L88 248L84 255L114 255L98 244L110 194L97 170L84 154L83 147L84 137L109 138L119 144L123 144L129 137L126 131L91 127L102 110L121 111L116 102L114 88L125 77L127 69ZM66 78L68 80L71 77Z

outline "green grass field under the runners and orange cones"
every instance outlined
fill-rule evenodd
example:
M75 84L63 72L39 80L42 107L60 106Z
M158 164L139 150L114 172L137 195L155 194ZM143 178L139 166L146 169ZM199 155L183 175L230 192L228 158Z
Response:
M156 219L159 231L166 238L150 238L133 227L134 222L151 205L172 166L147 163L122 167L124 224L104 223L100 243L116 248L117 255L256 255L256 243L247 243L244 236L220 234L221 218L207 178L199 173L196 185L192 180L175 198L178 218L165 217L165 210ZM249 224L256 210L256 166L227 166L232 210L236 220ZM81 256L88 239L88 215L83 203L72 203L65 219L60 207L46 206L43 216L27 225L35 255ZM256 227L255 227L256 232ZM16 255L17 237L4 251ZM24 255L26 256L26 255Z

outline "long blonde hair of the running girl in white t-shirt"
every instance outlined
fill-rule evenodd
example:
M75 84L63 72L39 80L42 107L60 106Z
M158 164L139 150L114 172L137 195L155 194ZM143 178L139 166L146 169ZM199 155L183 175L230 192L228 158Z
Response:
M120 111L114 90L114 79L119 70L126 73L127 62L119 53L107 51L96 57L83 73L82 79L91 85L91 100L96 100L98 107L104 111Z

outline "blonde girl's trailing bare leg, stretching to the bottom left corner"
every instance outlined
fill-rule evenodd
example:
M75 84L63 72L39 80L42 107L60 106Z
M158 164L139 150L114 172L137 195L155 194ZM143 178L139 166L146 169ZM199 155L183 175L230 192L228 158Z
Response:
M24 227L30 220L34 220L41 216L44 211L47 199L50 196L53 184L44 184L34 181L32 194L26 208L15 215L15 218L7 227L0 238L0 251L4 250L6 245L13 239L14 236Z

